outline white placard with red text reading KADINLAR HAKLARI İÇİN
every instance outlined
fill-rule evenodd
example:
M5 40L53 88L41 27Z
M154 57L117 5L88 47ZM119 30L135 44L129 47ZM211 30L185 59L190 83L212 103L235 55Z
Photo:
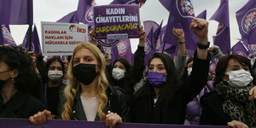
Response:
M41 22L43 55L72 55L77 44L88 42L84 24Z

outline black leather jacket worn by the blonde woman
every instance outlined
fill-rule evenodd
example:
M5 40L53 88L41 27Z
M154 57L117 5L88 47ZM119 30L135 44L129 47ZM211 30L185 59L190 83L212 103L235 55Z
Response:
M84 108L80 99L80 89L78 90L78 95L75 96L73 102L73 119L75 120L87 120L84 114ZM111 87L108 86L106 90L106 94L108 96L108 103L105 108L103 108L103 113L108 114L108 111L113 113L118 113L119 116L122 118L123 122L130 122L129 112L130 108L128 107L127 103L125 102L125 95L124 93L118 89L118 87ZM61 107L64 105L64 96L61 96ZM100 120L98 114L96 115L95 120Z

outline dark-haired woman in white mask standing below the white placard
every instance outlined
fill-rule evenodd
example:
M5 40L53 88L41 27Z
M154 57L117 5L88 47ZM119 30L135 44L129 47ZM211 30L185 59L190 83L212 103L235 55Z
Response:
M45 65L46 74L44 82L44 108L52 114L57 113L58 102L61 89L66 84L62 84L64 74L64 63L60 58L51 58Z

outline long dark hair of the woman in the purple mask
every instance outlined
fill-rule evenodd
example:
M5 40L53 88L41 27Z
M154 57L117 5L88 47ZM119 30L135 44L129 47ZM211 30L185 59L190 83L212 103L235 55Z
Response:
M148 67L150 62L155 59L160 58L160 60L164 63L166 68L166 84L161 87L160 90L160 102L173 102L175 100L175 95L177 90L181 86L181 81L177 77L177 71L174 66L174 62L169 55L163 53L155 53L152 58L148 61ZM148 81L143 85L143 87L137 90L135 94L136 97L144 96L144 95L154 95L154 88L152 85L149 84Z

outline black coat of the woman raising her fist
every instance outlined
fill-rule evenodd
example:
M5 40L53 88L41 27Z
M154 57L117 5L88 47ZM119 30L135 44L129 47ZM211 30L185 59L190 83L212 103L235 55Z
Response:
M154 93L135 97L131 107L131 119L136 123L183 125L186 105L207 84L210 55L207 60L195 58L191 79L183 83L172 102L154 104ZM151 92L154 90L151 90Z

